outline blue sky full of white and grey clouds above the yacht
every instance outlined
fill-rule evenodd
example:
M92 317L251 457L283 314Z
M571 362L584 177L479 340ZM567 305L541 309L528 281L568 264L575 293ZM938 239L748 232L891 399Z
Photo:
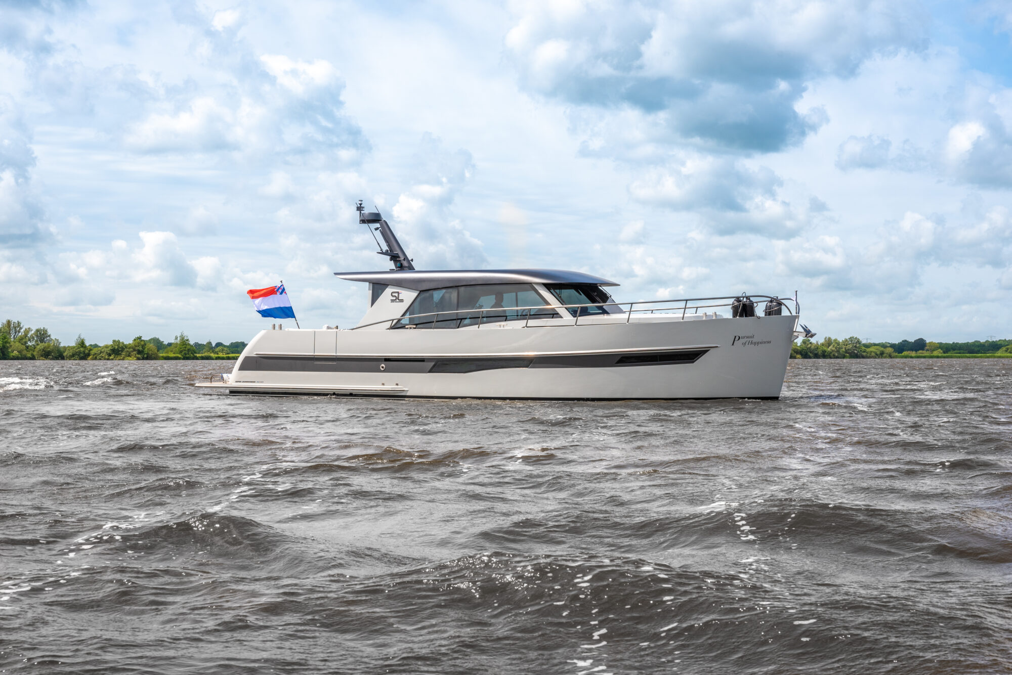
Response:
M1012 4L0 1L0 319L350 327L359 199L418 269L1012 336Z

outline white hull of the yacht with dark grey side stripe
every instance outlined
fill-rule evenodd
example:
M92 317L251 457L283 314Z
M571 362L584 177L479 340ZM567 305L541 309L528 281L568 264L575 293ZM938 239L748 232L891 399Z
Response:
M457 329L264 330L230 393L404 398L776 398L796 316L670 314Z

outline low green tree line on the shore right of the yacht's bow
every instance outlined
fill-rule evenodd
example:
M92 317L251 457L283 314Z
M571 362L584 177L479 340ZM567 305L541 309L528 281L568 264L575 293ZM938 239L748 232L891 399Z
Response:
M865 343L860 338L826 338L816 343L806 338L790 349L791 359L895 359L903 356L942 356L945 354L1008 354L1012 340L975 341L973 343L935 343L924 338L899 343Z

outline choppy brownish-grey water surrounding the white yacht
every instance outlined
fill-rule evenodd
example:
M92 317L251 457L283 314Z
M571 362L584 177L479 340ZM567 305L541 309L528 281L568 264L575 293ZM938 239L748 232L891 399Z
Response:
M1009 361L634 403L221 368L0 364L0 670L1012 671Z

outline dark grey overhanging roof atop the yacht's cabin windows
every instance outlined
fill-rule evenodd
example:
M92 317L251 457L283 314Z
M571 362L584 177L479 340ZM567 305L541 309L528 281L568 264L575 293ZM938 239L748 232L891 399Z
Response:
M478 284L595 284L617 286L613 281L569 270L411 270L389 272L335 272L348 281L400 286L415 291Z

